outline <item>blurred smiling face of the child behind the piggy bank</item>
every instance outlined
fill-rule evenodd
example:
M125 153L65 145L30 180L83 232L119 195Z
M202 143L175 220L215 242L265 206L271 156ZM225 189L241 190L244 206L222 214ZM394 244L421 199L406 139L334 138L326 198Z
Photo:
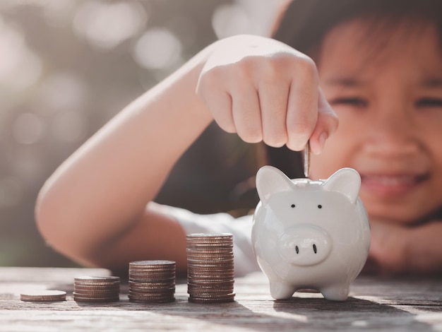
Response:
M371 218L411 223L442 206L442 55L436 28L419 28L343 23L316 61L340 123L311 177L353 167Z

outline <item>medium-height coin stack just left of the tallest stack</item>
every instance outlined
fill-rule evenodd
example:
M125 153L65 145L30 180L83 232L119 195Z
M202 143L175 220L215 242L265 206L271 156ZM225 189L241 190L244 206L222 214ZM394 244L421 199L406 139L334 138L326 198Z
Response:
M173 302L175 271L174 261L132 261L129 263L129 301Z

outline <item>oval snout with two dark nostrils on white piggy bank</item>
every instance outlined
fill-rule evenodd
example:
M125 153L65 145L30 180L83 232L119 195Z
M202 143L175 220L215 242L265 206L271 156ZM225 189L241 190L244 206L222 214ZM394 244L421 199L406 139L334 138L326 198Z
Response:
M285 261L297 266L321 263L332 248L332 241L325 230L314 225L297 225L280 237L278 251Z

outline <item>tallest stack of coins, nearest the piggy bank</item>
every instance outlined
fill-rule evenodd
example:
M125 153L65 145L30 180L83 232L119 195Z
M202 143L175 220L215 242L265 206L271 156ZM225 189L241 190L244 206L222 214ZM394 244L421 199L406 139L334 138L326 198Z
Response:
M233 302L233 284L233 235L187 235L189 302Z

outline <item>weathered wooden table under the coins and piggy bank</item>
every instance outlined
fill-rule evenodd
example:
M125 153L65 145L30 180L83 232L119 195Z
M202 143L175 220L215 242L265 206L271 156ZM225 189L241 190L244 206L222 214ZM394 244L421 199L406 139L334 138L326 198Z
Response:
M0 268L0 331L442 331L442 281L362 276L345 302L315 293L275 301L261 273L235 280L236 301L194 304L186 280L178 280L168 304L121 300L80 304L72 300L77 275L108 275L102 269ZM27 290L65 290L64 302L20 301Z

